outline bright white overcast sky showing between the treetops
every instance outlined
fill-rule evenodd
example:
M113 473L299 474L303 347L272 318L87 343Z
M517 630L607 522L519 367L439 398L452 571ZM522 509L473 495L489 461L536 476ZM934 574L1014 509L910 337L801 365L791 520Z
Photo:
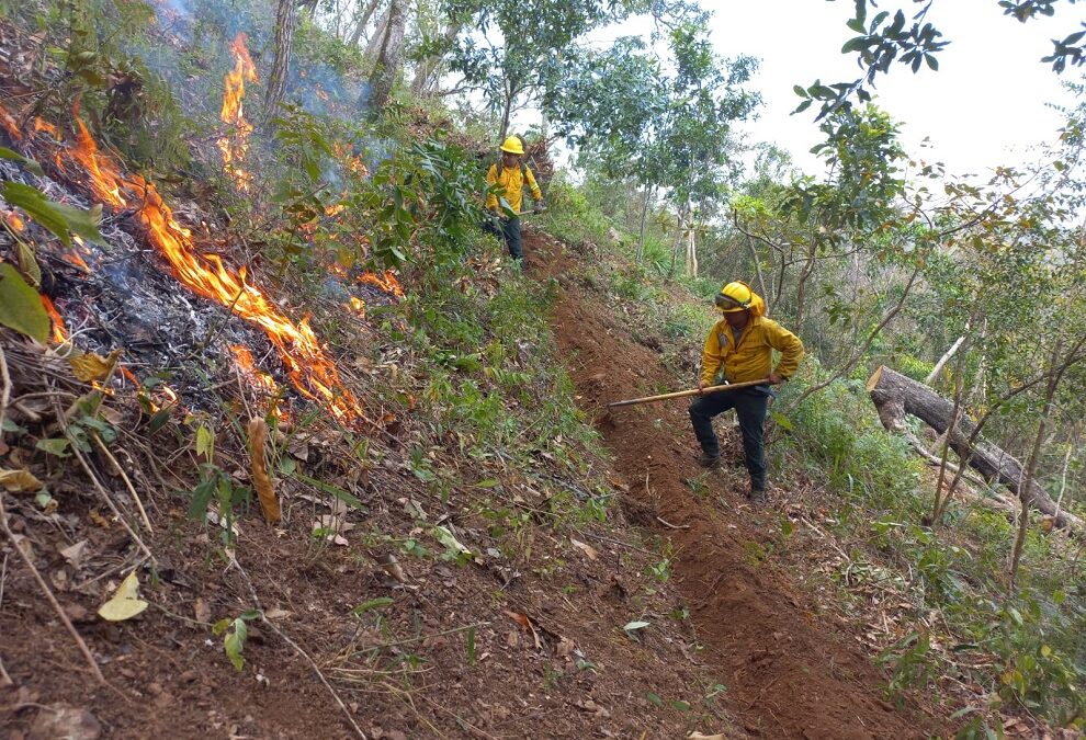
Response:
M770 141L790 151L807 172L822 168L808 153L821 134L808 110L790 113L800 99L794 84L851 81L859 75L852 55L841 45L852 37L845 23L852 16L849 0L722 0L704 2L715 10L712 38L723 56L747 54L760 67L751 88L761 92L758 121L747 126L748 138ZM921 5L898 0L880 9L906 13ZM874 12L869 11L871 15ZM952 43L939 55L939 71L925 66L914 75L903 65L876 80L876 102L903 124L901 140L912 157L942 161L947 172L986 174L995 166L1022 164L1029 148L1054 141L1062 124L1048 103L1072 104L1063 80L1082 78L1082 68L1062 76L1042 64L1052 38L1064 38L1086 21L1086 4L1057 3L1052 18L1021 24L1003 14L996 0L936 0L928 21ZM629 23L592 35L603 45L618 35L645 33L647 23ZM813 109L814 106L812 106ZM930 148L921 140L930 138Z

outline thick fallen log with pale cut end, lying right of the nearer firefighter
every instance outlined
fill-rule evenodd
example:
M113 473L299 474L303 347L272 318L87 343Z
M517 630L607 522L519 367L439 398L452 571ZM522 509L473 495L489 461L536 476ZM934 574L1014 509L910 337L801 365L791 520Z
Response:
M939 434L947 433L953 415L954 405L928 386L917 383L886 366L881 366L868 379L868 394L879 411L882 425L892 432L904 432L905 414L917 417ZM961 459L969 459L969 466L988 480L998 480L1015 496L1022 482L1022 465L1004 449L978 440L970 447L969 435L973 424L968 419L959 422L958 429L949 433L950 447ZM1059 509L1055 501L1036 480L1030 481L1026 500L1038 511L1053 517L1053 524L1061 528L1074 530L1076 534L1086 532L1084 523L1074 514Z

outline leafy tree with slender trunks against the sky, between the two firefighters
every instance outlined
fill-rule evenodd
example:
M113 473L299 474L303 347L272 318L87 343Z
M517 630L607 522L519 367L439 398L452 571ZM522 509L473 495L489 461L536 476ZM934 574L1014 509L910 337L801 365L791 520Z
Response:
M705 21L700 14L668 30L669 69L643 41L629 37L604 53L568 59L564 82L546 101L582 156L643 187L642 239L652 193L668 195L678 212L676 251L693 208L711 209L734 180L733 126L760 102L742 87L756 61L719 57Z

